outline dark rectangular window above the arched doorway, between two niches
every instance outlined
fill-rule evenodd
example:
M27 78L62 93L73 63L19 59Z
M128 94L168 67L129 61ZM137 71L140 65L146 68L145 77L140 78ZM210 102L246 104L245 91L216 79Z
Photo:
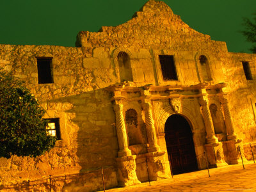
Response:
M172 55L159 55L164 81L177 81L177 72Z

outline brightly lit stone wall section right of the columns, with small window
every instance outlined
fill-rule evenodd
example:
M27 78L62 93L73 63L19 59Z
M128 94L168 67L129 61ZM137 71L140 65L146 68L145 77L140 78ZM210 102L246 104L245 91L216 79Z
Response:
M225 63L223 70L228 83L227 92L230 95L230 111L236 132L244 142L255 141L256 56L255 54L229 53L223 60ZM253 80L246 80L242 61L249 62Z

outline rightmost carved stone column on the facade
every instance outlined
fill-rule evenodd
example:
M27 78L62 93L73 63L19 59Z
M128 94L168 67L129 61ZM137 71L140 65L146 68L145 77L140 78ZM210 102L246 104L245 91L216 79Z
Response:
M227 94L219 93L218 97L220 99L221 106L223 107L223 111L224 111L225 125L227 128L227 140L236 140L237 136L234 131L233 120L228 107Z

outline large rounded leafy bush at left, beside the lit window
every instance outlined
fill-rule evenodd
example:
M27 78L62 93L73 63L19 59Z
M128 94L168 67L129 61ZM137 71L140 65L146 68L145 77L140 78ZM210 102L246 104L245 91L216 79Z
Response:
M22 82L0 68L0 157L39 156L54 147L44 113Z

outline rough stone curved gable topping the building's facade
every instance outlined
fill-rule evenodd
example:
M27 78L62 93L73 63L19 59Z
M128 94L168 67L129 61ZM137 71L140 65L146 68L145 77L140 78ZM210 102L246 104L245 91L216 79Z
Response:
M190 28L163 1L149 0L124 24L103 26L99 32L80 31L76 46L170 49L209 41L209 35Z

